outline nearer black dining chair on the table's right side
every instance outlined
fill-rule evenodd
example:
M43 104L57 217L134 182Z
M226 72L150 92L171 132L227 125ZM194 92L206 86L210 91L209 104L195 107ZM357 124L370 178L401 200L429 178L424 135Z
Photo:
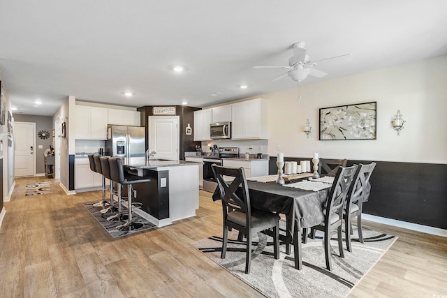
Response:
M329 271L332 271L332 262L330 260L330 235L334 230L337 230L340 257L344 258L342 235L344 202L356 170L357 165L353 165L352 167L339 167L337 174L335 175L334 183L330 188L325 209L323 209L324 221L319 225L310 228L311 238L315 238L316 230L324 232L326 268L328 268ZM304 241L306 242L307 228L303 229L303 234L305 235Z

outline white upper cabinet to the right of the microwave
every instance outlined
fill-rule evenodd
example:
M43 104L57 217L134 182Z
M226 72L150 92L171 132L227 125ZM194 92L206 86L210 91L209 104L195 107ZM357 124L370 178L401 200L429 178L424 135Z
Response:
M256 98L231 105L233 140L268 139L267 100Z

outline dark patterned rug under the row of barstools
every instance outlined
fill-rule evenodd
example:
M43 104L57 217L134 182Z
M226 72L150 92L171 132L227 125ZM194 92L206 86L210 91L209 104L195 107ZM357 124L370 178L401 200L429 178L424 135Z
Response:
M126 223L126 221L108 221L107 218L110 216L110 213L102 214L101 209L103 209L103 207L94 207L93 204L95 204L95 203L97 203L97 201L83 203L82 206L84 206L85 209L87 209L87 211L89 211L90 214L92 216L94 216L94 218L96 218L96 221L98 221L98 223L100 223L103 226L103 228L113 238L129 236L131 234L144 232L149 229L156 228L156 225L154 225L153 223L149 223L149 221L147 221L145 218L142 218L141 216L139 216L138 214L135 214L135 212L133 212L132 221L134 223L142 223L142 228L139 228L138 230L131 230L131 231L119 231L119 230L117 230L117 226L122 225L123 223ZM124 207L123 207L123 209L124 209L123 213L127 214L128 213L127 209Z

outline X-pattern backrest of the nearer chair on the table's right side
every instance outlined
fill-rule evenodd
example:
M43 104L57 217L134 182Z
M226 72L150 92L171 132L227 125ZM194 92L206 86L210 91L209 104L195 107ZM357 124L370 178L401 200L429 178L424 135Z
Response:
M334 183L332 183L329 191L325 214L326 223L330 223L332 214L338 214L340 221L342 220L344 202L356 170L357 165L353 165L352 167L339 167L335 175Z

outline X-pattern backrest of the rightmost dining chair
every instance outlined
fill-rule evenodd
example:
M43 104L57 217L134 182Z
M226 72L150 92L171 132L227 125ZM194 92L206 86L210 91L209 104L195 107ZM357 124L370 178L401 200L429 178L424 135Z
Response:
M360 163L358 165L353 182L349 186L348 195L346 196L346 206L350 207L351 204L358 204L358 209L360 209L360 212L362 211L363 197L365 196L369 177L371 177L374 167L376 167L376 163L370 163L369 165ZM346 207L346 210L349 209Z

